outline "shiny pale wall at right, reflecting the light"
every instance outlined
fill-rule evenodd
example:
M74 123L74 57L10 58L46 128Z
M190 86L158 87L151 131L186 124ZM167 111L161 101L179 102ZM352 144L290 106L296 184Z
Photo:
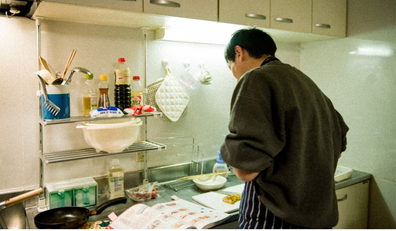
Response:
M374 176L372 228L396 228L395 12L394 0L348 0L348 38L303 44L301 50L302 71L350 128L339 164Z

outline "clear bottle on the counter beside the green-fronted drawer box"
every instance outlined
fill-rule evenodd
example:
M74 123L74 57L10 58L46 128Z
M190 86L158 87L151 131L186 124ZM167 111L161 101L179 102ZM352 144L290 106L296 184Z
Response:
M110 199L124 197L124 169L121 168L119 159L111 161L108 177Z

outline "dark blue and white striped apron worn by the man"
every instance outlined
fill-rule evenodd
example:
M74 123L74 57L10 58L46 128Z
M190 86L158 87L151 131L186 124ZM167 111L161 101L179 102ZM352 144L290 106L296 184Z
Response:
M307 229L275 216L261 203L253 181L245 183L239 207L240 229Z

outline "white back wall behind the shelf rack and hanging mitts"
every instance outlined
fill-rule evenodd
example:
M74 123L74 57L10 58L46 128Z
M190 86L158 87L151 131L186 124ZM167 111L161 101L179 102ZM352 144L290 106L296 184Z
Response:
M41 30L42 57L50 68L62 71L70 52L76 49L70 68L88 69L94 74L96 83L99 82L99 74L107 74L111 103L114 101L112 73L118 57L126 58L133 75L143 76L143 34L140 29L43 20ZM186 59L190 61L194 72L198 71L198 62L204 61L212 75L213 84L200 85L190 92L185 118L175 123L164 122L162 118L147 118L148 138L156 141L156 138L169 136L194 137L194 142L200 145L204 157L215 157L228 131L230 97L236 84L223 57L225 47L153 41L152 35L149 32L147 36L147 84L164 77L161 65L163 58L169 59L169 68L176 77L183 73L183 62ZM8 109L0 113L0 162L9 163L2 164L1 167L0 193L6 193L39 185L38 79L34 74L38 68L35 22L25 18L0 17L0 41L0 103ZM278 57L299 67L299 45L278 44ZM82 73L73 75L70 84L71 116L82 115L84 77ZM88 147L82 130L75 126L76 124L62 124L44 127L44 152ZM149 166L192 159L190 155L177 156L178 153L173 151L175 149L169 146L167 151L150 151ZM181 149L190 152L190 147L183 146ZM126 171L143 168L142 163L135 161L134 154L116 157L120 158ZM111 157L99 157L49 164L44 166L44 179L45 182L53 182L105 175L110 159Z

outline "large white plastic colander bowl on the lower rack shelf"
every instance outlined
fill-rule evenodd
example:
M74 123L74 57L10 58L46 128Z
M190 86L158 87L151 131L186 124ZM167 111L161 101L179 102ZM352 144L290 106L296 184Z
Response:
M111 120L99 120L108 121L105 124L90 124L81 125L78 124L76 128L82 128L84 133L84 139L89 146L96 149L97 152L105 151L108 153L120 153L132 145L137 136L139 136L140 126L143 122L134 123L121 122L114 123ZM99 122L97 121L97 122Z

